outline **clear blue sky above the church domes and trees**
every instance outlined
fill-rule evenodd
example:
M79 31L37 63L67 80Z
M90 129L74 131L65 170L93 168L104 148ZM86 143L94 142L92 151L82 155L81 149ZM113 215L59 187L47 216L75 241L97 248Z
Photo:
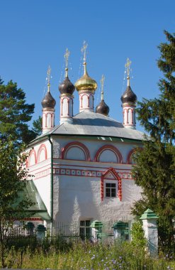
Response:
M98 82L95 106L103 74L104 99L113 119L123 120L120 96L126 87L127 58L132 61L131 87L137 98L159 95L157 45L165 41L164 29L175 32L174 0L0 0L0 9L0 75L4 82L17 82L26 92L26 101L35 103L33 119L41 115L50 64L51 92L57 102L55 124L59 124L64 52L70 50L69 79L75 82L81 75L83 41L89 45L87 70ZM74 114L78 112L75 91Z

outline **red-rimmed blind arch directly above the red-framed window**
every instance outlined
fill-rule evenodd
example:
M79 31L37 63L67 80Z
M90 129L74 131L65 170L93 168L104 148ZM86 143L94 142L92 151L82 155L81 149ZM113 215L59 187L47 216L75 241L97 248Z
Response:
M122 155L115 146L106 145L98 149L94 161L122 163Z

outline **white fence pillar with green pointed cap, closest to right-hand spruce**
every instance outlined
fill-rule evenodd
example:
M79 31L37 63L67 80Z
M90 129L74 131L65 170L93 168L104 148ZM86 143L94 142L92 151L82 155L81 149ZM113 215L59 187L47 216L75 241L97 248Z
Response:
M149 208L142 214L142 228L147 239L148 252L151 257L158 256L158 231L157 231L157 215Z

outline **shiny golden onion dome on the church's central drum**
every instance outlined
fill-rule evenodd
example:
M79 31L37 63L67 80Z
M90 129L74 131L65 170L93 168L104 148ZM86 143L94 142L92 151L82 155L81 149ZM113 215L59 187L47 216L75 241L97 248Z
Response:
M84 62L84 75L75 82L74 86L76 87L77 91L79 90L96 90L97 83L95 80L89 77L87 70L86 70L86 63Z

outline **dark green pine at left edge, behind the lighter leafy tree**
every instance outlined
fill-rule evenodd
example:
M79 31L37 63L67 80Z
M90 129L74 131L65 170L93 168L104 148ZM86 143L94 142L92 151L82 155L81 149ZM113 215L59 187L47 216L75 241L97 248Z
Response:
M4 85L0 78L0 139L11 139L28 144L35 139L35 132L29 129L34 104L26 103L26 94L17 87L16 82Z

